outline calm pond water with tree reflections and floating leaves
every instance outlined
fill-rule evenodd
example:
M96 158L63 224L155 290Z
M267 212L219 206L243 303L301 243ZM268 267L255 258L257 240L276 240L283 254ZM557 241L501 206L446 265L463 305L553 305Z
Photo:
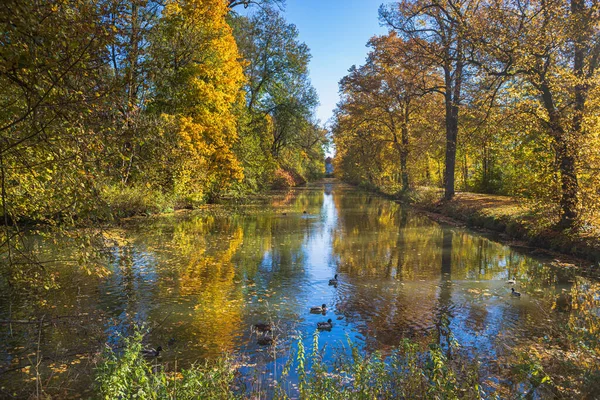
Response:
M590 283L333 180L246 205L134 219L104 236L106 276L56 261L80 246L72 238L29 238L54 283L42 294L0 295L0 320L15 321L0 325L0 397L35 393L36 371L49 393L89 395L95 354L140 323L147 344L164 348L161 362L230 353L242 371L267 377L299 337L310 347L329 318L333 328L319 338L325 358L348 340L385 354L444 326L493 375L509 349L566 324L571 291ZM321 304L326 315L309 312ZM258 344L256 323L274 325L275 346Z

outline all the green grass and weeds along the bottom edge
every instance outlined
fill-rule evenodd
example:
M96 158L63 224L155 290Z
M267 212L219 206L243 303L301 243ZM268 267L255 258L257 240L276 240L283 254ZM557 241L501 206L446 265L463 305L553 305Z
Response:
M142 335L127 339L117 355L108 350L97 368L97 389L105 399L479 399L478 363L457 349L433 344L425 351L404 341L391 355L367 355L349 341L350 351L326 362L315 333L307 351L302 338L290 354L273 392L241 392L232 360L196 364L167 372L140 354ZM294 373L294 377L291 374ZM287 382L287 383L283 383ZM260 385L259 385L260 386Z

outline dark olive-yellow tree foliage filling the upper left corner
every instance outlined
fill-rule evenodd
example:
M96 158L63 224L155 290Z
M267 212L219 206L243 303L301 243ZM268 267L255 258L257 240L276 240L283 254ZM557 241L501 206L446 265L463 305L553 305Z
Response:
M87 0L0 5L0 171L4 225L70 220L93 208L94 177L113 88L99 23ZM9 243L8 235L4 244Z

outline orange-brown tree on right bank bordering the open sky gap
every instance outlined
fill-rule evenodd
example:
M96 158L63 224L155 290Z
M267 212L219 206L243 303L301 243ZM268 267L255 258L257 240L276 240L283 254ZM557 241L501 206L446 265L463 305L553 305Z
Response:
M337 136L355 135L356 139L368 135L371 145L378 142L376 147L382 151L386 147L387 153L392 150L390 155L395 155L389 161L397 164L392 170L400 171L402 189L406 191L410 186L409 156L421 142L411 139L421 133L414 122L419 120L418 113L423 115L422 111L430 109L424 97L437 77L415 53L418 46L395 32L372 38L369 46L372 49L367 63L350 68L340 82L342 101L335 132ZM423 148L420 150L420 155L426 153Z

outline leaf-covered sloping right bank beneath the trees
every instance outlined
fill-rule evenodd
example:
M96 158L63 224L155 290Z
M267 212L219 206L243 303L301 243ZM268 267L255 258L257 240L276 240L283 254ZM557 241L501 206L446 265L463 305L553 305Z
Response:
M508 244L600 262L598 226L588 224L580 232L556 230L541 211L509 196L458 192L450 201L440 196L432 189L418 189L397 201L410 203L438 222L497 233Z

